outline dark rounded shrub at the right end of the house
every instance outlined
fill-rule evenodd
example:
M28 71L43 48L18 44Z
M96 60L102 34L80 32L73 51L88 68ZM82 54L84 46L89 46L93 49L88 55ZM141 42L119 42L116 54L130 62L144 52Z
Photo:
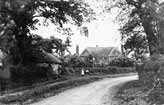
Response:
M120 57L112 60L109 63L110 66L117 66L117 67L133 67L134 60L127 58L127 57Z

